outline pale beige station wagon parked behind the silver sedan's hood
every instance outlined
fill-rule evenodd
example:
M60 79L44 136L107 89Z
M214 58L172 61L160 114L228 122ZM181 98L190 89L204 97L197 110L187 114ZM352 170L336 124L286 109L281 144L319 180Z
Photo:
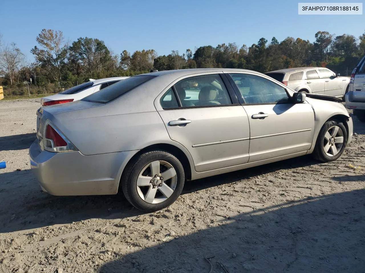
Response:
M341 77L325 67L297 67L266 72L297 92L342 98L349 90L350 78Z

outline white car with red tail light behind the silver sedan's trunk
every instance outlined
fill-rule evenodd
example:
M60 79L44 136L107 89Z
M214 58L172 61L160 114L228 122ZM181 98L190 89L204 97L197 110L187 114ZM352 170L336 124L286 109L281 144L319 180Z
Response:
M105 87L108 87L120 80L127 79L129 77L113 77L105 79L89 79L88 82L81 83L77 86L71 87L65 91L58 94L46 96L41 99L42 106L49 106L53 104L60 104L66 102L73 102L74 100L80 100L86 96L99 91Z

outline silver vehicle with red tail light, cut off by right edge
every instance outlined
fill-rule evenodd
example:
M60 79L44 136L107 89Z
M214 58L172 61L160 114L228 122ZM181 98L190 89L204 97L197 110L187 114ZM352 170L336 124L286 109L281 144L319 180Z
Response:
M346 107L365 122L365 56L351 73L349 92L345 96Z

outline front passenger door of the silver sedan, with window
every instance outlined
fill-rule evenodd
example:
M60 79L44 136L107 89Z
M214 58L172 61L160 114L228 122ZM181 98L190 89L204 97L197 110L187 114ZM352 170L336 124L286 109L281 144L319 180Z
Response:
M314 112L309 103L291 103L283 86L261 75L249 72L229 75L236 79L231 83L235 84L238 99L249 118L249 162L311 148Z

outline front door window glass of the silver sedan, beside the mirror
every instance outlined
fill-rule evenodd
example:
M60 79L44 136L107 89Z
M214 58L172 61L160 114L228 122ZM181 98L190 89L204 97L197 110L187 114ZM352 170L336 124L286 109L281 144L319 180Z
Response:
M230 74L235 80L246 103L286 103L285 88L260 76L251 74ZM238 80L239 79L239 80Z

